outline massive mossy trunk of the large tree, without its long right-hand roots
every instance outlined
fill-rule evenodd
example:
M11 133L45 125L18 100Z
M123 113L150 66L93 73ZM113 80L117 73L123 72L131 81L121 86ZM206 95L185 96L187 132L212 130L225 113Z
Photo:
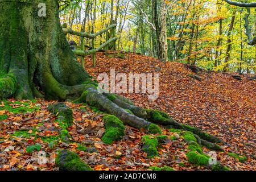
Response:
M38 15L41 2L46 3L46 17ZM2 84L2 98L35 96L65 100L79 89L73 85L89 78L74 61L60 26L58 9L55 0L0 2L1 77L12 75L18 83L17 88L12 88L15 90L5 95L2 93L8 89Z

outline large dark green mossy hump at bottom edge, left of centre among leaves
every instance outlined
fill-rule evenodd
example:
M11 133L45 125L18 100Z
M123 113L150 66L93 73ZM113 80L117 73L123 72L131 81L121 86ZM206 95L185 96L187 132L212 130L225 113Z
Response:
M92 168L82 162L77 154L68 150L59 152L55 164L64 171L92 171Z

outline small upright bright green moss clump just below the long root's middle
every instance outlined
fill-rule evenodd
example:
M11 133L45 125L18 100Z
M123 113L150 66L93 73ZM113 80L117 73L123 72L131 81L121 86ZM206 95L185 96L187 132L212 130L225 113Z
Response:
M154 158L155 156L158 156L158 139L146 135L142 137L142 142L144 143L142 146L142 151L147 153L147 158Z

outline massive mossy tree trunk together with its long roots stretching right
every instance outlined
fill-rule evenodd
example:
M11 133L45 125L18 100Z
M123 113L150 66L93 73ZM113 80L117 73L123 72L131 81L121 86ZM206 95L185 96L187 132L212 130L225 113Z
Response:
M42 2L46 16L38 15ZM0 99L42 97L86 102L149 133L160 133L153 124L158 123L195 131L212 142L211 136L183 126L164 113L134 106L114 94L98 93L97 83L69 48L56 0L1 0L0 14Z

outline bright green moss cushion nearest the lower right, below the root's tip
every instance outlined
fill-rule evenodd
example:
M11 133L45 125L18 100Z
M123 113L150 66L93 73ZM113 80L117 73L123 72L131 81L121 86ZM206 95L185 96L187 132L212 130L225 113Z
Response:
M187 153L188 162L198 166L208 166L210 157L207 155L199 154L198 152L191 151Z

